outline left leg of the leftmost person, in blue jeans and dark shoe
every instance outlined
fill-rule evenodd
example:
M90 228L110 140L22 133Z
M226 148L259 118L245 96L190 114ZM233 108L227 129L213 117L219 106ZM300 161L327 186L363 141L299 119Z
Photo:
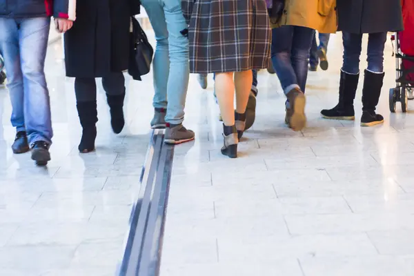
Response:
M0 55L4 57L4 66L8 72L8 90L12 103L12 126L17 135L12 144L14 153L30 150L24 124L24 88L21 72L19 30L14 19L0 18Z

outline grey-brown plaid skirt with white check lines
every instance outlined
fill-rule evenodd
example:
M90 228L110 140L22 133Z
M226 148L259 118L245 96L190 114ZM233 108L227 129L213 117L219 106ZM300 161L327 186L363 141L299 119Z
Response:
M272 32L265 0L195 0L192 8L190 72L268 67Z

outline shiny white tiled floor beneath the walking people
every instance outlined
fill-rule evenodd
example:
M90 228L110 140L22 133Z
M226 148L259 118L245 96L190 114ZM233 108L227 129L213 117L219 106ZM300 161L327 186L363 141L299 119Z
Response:
M197 137L175 148L161 276L414 275L414 115L388 110L391 53L388 42L378 106L386 123L374 128L359 127L360 88L355 122L319 118L337 101L340 35L329 70L309 73L302 132L284 126L277 77L259 72L257 121L235 160L219 152L212 79L201 90L192 76L185 124ZM0 88L0 275L114 275L148 146L151 76L128 79L121 135L110 130L99 86L97 151L79 155L59 43L46 71L55 128L48 168L12 155L10 101Z

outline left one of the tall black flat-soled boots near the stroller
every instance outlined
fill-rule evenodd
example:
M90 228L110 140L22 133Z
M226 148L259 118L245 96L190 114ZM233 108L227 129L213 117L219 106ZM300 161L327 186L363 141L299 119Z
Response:
M335 108L324 109L321 115L325 119L354 120L355 110L353 101L357 92L359 74L351 75L341 70L339 81L339 103Z

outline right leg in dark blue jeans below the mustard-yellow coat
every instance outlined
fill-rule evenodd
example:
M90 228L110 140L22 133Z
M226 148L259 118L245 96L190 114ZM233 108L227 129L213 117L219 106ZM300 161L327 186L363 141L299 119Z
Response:
M305 92L308 78L308 57L311 50L315 30L305 27L294 27L290 60L302 92Z

